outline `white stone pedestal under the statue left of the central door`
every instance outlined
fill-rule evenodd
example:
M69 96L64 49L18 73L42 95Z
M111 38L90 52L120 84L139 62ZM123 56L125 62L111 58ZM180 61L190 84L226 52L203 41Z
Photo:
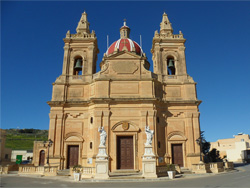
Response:
M108 179L109 178L109 160L106 153L105 146L99 146L99 152L95 161L95 179Z

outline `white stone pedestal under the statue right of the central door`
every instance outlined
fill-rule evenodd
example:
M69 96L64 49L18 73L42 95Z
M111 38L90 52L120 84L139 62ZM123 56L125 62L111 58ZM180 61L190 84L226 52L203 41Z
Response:
M145 146L145 153L142 158L142 176L144 178L157 178L156 159L152 146Z

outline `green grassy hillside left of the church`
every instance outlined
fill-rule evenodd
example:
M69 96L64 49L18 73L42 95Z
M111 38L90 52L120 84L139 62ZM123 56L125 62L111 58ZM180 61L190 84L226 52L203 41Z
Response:
M6 129L5 147L13 150L33 150L34 141L48 140L48 130Z

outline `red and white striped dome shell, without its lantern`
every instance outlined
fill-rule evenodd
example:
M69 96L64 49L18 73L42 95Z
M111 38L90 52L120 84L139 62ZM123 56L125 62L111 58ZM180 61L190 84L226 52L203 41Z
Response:
M129 52L135 52L137 55L142 56L143 51L139 44L137 44L135 41L125 38L125 39L119 39L115 41L111 46L108 48L106 54L107 56L114 53L115 49L118 51L123 51L123 48L126 47Z

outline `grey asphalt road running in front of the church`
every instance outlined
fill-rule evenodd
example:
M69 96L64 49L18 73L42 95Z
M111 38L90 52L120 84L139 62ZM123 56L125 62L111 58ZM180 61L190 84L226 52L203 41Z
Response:
M3 175L1 187L246 187L250 188L250 164L239 171L218 175L191 175L174 180L141 182L74 182L69 178Z

